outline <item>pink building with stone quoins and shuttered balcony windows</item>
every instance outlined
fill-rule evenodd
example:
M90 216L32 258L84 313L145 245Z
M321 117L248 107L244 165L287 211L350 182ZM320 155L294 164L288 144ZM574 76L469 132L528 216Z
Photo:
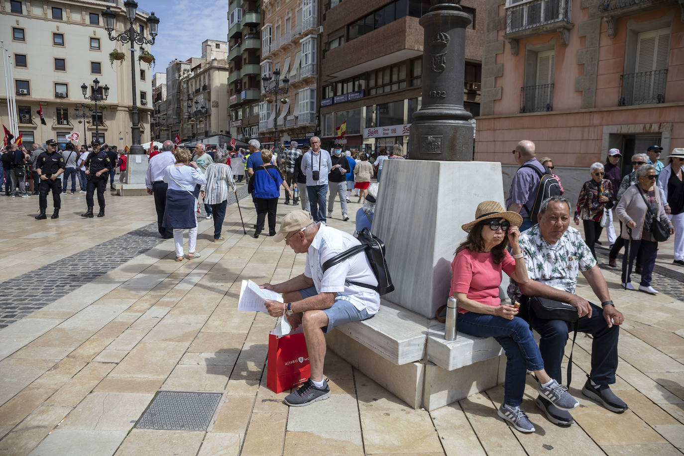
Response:
M610 148L624 174L633 153L684 144L681 3L488 0L487 15L475 159L503 163L504 189L521 139L553 159L571 199Z

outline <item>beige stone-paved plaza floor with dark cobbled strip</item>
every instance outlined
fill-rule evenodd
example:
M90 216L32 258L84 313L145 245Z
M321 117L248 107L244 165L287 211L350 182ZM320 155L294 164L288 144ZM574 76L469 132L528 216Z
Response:
M237 311L237 297L243 279L298 275L304 255L244 236L231 204L225 240L212 242L213 222L201 219L201 257L176 263L172 240L157 234L151 196L108 193L101 219L79 216L84 193L62 201L59 219L37 221L37 196L0 196L0 456L684 451L684 269L671 264L671 241L659 251L655 297L620 289L619 271L605 267L599 248L626 317L613 389L629 410L614 414L581 394L592 340L580 334L570 388L581 404L576 424L542 417L530 376L523 407L536 432L524 435L497 417L502 386L433 412L413 410L331 352L330 399L287 407L288 392L266 388L276 321ZM342 222L337 202L330 226L352 232L358 207L350 204L352 220ZM292 209L279 204L278 217ZM241 211L249 228L250 198ZM595 299L583 280L578 294ZM159 390L219 393L207 431L135 427Z

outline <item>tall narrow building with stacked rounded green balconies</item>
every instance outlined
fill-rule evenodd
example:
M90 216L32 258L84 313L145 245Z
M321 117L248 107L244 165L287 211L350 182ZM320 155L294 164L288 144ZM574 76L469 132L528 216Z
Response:
M261 1L231 0L228 7L228 104L231 135L259 137Z

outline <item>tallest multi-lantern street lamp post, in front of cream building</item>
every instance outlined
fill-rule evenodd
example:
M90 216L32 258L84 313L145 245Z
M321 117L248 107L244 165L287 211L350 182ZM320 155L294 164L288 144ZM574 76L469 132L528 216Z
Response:
M116 13L109 9L102 12L103 22L105 23L105 30L107 30L107 36L109 36L110 41L118 41L122 43L131 43L131 88L133 89L133 125L131 126L131 136L133 138L133 144L131 145L131 155L142 155L144 150L140 146L140 118L137 113L137 97L135 96L135 49L133 49L133 44L138 44L142 46L143 44L155 44L155 38L157 37L157 27L159 26L159 18L155 16L152 12L147 18L147 26L150 30L151 40L145 38L145 36L139 31L135 30L133 23L135 22L135 10L137 10L137 2L134 0L124 1L124 7L126 8L126 17L129 21L129 28L122 31L116 36L112 36L111 32L114 31L114 23L116 20Z

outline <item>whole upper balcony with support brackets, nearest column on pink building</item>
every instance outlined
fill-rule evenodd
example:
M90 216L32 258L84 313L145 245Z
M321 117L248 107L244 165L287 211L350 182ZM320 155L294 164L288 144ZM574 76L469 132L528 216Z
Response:
M506 9L507 40L519 40L529 36L560 31L561 43L568 45L571 0L530 0ZM515 49L517 54L517 47Z

